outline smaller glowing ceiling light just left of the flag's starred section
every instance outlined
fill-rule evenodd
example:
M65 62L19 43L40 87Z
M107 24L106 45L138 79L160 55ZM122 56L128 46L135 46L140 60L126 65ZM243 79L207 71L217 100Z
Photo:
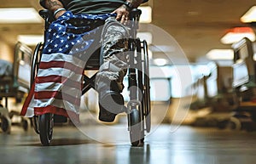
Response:
M37 45L38 42L44 42L44 36L42 35L19 35L18 41L23 42L28 46Z

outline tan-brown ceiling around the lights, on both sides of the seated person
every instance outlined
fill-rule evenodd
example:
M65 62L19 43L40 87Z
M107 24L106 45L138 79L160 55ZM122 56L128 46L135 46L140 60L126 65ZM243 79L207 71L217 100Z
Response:
M240 17L255 0L149 0L148 4L153 8L153 21L150 28L142 25L142 29L154 33L153 43L167 47L176 44L189 61L195 62L212 48L230 48L220 38L231 27L247 26ZM0 7L41 8L38 0L3 1ZM0 37L14 45L17 35L42 34L43 29L43 23L0 24ZM176 42L169 42L170 38Z

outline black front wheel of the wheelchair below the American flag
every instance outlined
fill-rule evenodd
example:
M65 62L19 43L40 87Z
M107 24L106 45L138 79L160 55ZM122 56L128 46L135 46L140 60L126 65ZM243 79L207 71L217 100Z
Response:
M47 113L38 117L39 119L39 135L41 143L48 146L52 140L53 134L53 114Z

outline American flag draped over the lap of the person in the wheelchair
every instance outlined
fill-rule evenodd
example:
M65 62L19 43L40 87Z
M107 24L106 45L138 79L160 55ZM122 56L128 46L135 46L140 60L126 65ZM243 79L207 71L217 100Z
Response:
M38 75L21 116L53 113L79 119L82 76L86 60L100 46L101 27L113 14L67 11L49 25Z

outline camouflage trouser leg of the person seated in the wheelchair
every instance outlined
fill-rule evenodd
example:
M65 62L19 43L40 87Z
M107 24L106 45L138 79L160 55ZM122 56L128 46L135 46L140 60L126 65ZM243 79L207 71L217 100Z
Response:
M96 75L96 90L122 92L127 71L129 31L113 17L106 20L102 29L102 65Z

